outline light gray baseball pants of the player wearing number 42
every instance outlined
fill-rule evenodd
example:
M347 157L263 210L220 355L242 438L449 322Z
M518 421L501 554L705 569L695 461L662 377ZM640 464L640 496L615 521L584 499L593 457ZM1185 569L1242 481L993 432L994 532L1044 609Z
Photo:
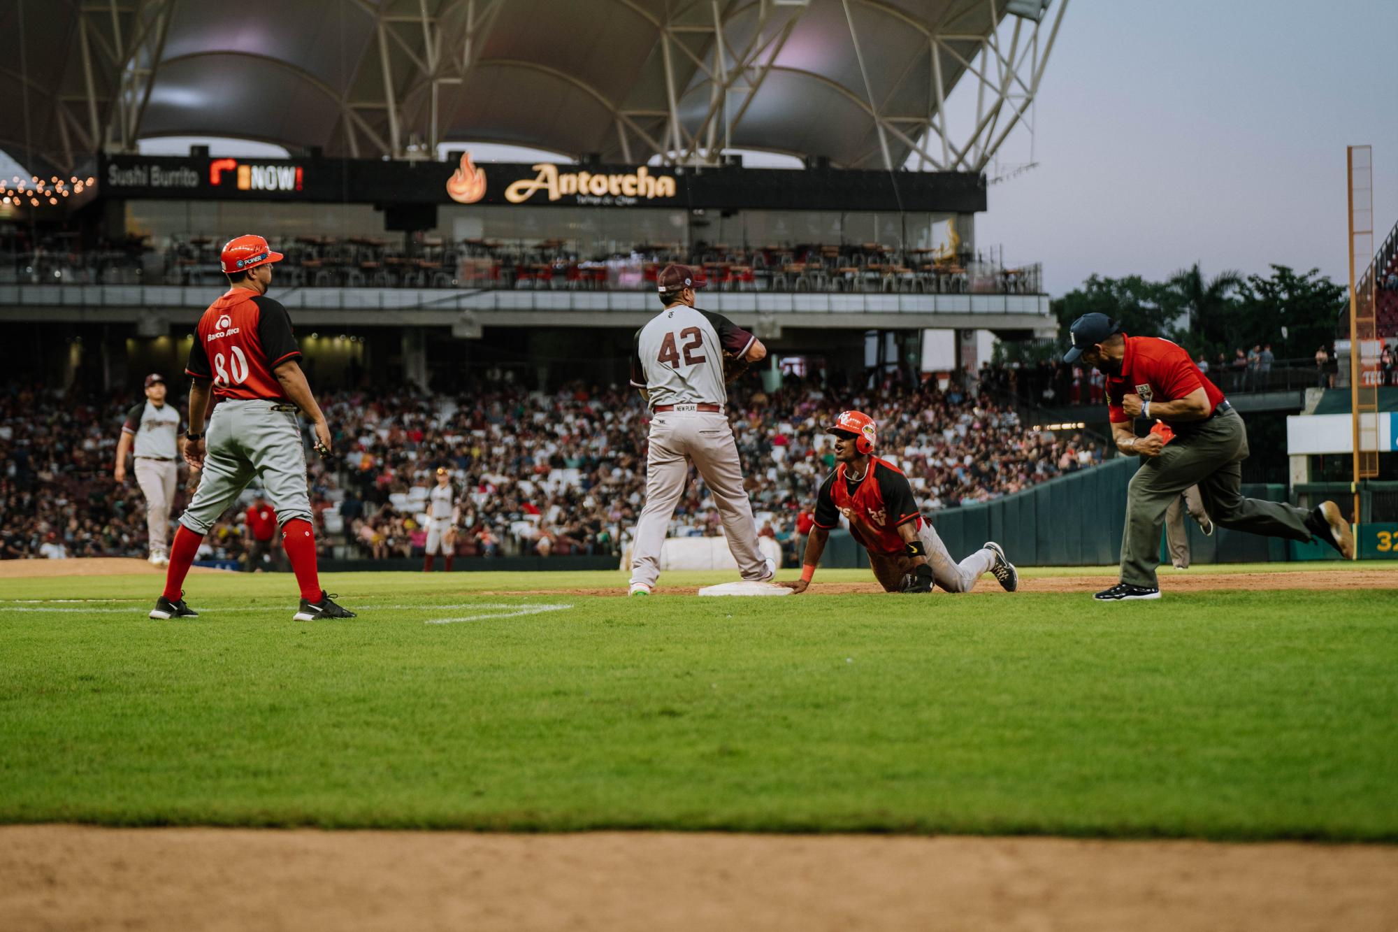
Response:
M768 574L766 558L758 549L758 525L742 487L742 463L728 418L720 411L664 411L650 421L650 452L646 456L646 507L636 521L630 581L654 586L660 578L660 549L670 519L695 465L713 493L723 518L728 550L738 561L744 579Z

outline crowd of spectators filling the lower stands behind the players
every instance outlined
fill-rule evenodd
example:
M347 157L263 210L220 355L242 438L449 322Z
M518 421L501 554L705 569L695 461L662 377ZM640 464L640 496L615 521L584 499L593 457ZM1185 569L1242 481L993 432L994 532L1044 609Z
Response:
M11 386L0 402L0 553L145 556L143 500L112 465L129 399L63 397ZM183 399L171 397L183 406ZM309 456L312 509L323 554L422 554L422 512L436 466L452 470L461 557L618 556L644 501L647 411L629 389L569 385L552 393L475 385L454 395L401 386L326 393L336 441ZM797 558L815 488L833 467L823 425L842 407L879 423L879 453L909 473L927 514L988 501L1100 462L1082 435L1026 428L988 395L896 383L836 395L788 381L731 399L731 421L761 533ZM247 495L250 498L250 494ZM187 495L180 491L172 515ZM203 560L249 550L243 502L206 537ZM712 536L720 521L692 477L671 533Z

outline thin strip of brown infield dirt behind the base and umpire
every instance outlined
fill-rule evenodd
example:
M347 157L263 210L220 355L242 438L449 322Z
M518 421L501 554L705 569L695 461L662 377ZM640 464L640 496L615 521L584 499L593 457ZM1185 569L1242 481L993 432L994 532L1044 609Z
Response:
M1117 585L1116 577L1021 577L1019 592L1092 593ZM1237 589L1398 589L1394 570L1296 570L1288 572L1197 572L1160 571L1160 592L1215 592ZM939 589L938 595L945 595ZM531 589L531 595L625 596L625 586L611 589ZM658 586L656 595L693 595L693 586ZM872 578L868 582L825 582L819 579L802 595L882 595ZM509 591L475 595L520 595ZM970 595L1008 595L994 579L981 579Z

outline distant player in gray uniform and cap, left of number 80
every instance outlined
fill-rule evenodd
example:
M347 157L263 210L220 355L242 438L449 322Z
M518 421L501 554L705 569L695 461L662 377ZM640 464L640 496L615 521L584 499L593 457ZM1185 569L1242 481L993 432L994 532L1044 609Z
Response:
M165 378L158 372L145 376L145 400L126 413L122 438L116 442L116 469L112 477L126 481L126 456L134 448L136 484L145 497L145 537L152 567L169 565L171 507L185 438L179 432L179 411L165 403Z

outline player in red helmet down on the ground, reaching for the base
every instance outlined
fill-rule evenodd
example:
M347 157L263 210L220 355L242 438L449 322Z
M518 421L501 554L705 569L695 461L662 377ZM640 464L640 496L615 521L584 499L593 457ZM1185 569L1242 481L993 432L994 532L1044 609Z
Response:
M784 582L801 593L811 585L840 515L854 540L870 554L870 568L885 592L970 592L981 574L995 577L1005 592L1019 588L1019 572L998 543L988 542L959 564L942 539L923 521L907 476L874 456L878 442L874 418L863 411L840 411L826 432L835 437L836 466L816 493L815 526L805 543L801 578Z

